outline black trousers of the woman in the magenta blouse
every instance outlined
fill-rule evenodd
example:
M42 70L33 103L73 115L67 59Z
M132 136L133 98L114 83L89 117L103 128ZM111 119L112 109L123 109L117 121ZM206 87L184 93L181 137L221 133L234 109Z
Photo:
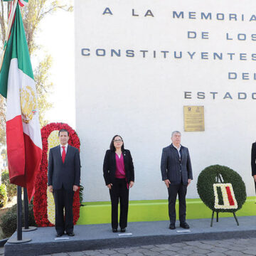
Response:
M125 178L116 178L110 189L111 198L111 224L112 228L118 227L118 202L120 201L120 228L127 227L129 189Z

